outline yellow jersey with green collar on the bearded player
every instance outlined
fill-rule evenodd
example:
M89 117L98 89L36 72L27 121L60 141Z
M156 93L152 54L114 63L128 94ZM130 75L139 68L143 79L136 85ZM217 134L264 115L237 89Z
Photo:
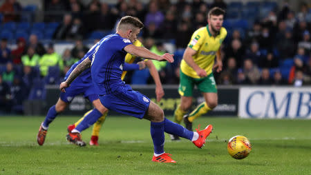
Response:
M219 50L221 43L227 36L227 30L220 28L220 32L216 37L209 32L208 25L203 28L199 28L192 34L188 47L196 50L196 54L192 56L194 62L207 72L207 75L211 74L214 65L216 52ZM200 76L196 74L196 71L192 69L185 60L182 59L180 63L180 70L187 76L199 79Z

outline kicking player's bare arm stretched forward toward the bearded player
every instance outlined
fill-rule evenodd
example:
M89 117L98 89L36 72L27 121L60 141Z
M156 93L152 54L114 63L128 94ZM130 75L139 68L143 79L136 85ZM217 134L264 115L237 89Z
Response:
M137 47L133 44L126 45L124 47L124 50L126 52L128 52L129 54L133 54L135 56L140 56L140 57L146 58L146 59L154 59L157 61L168 61L169 63L173 63L173 61L174 61L173 54L165 53L165 54L162 54L160 56L158 54L154 54L153 52L150 52L146 48Z

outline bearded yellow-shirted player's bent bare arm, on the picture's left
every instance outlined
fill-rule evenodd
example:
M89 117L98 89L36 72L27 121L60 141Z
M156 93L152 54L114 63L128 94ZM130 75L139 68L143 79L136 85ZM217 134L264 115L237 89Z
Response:
M194 56L196 54L196 50L193 50L191 48L187 48L185 50L185 54L183 56L182 59L184 59L186 61L186 63L188 65L190 65L191 68L194 69L194 71L196 71L196 74L198 74L198 76L200 77L205 77L207 76L207 73L204 69L200 68L195 62L194 62L194 58L192 56Z

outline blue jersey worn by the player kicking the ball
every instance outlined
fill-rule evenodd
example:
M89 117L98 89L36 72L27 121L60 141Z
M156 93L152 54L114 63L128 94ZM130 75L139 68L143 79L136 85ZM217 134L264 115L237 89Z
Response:
M91 57L91 76L97 94L111 94L114 87L124 84L121 80L126 52L124 47L131 44L129 39L111 34L104 37L95 47Z

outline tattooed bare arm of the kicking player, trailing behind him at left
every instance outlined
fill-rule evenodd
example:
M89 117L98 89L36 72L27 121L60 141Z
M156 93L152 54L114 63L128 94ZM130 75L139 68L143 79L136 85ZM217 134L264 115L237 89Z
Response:
M90 68L90 66L91 60L88 58L84 59L84 61L79 63L77 67L75 67L73 72L71 72L71 74L68 76L68 79L66 79L66 81L62 82L59 85L59 90L65 92L65 88L69 87L70 83L72 83L77 78L77 76L79 76L79 74L81 74L84 70Z

